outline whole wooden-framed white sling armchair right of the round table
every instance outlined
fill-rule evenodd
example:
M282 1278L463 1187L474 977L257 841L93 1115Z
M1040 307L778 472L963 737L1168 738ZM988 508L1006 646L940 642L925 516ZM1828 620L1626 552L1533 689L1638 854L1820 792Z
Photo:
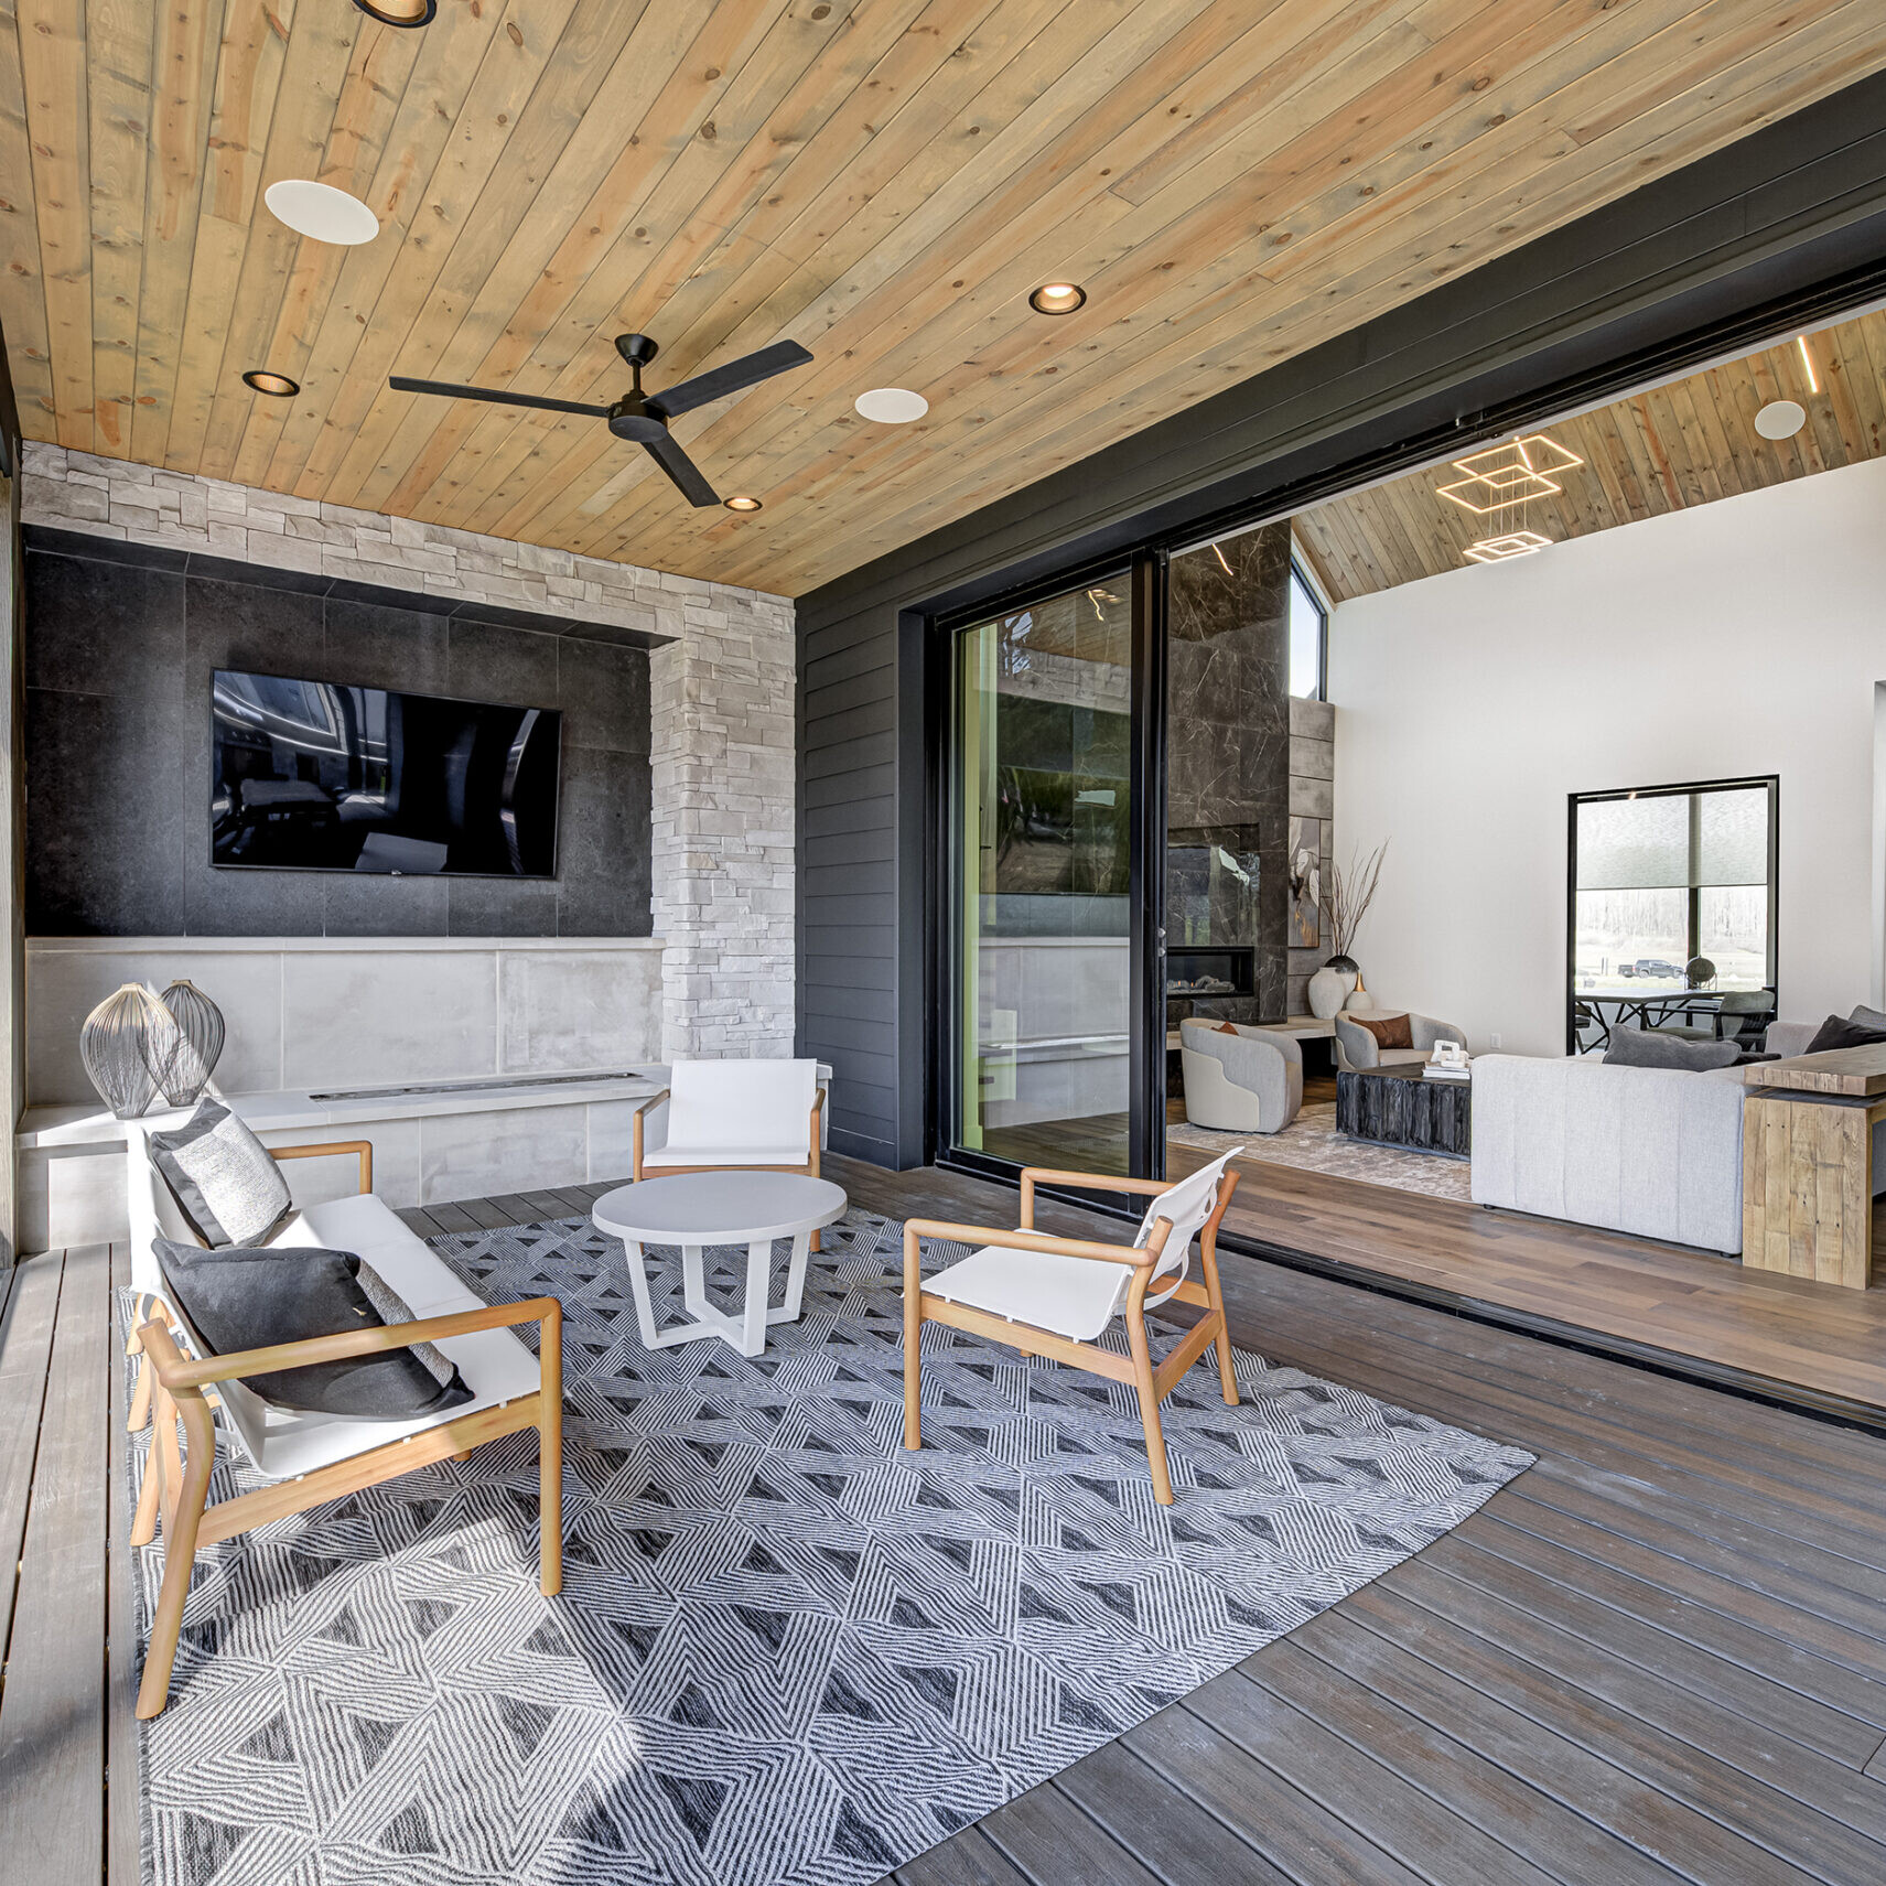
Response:
M1173 1482L1160 1430L1160 1403L1213 1345L1218 1350L1218 1384L1226 1405L1237 1407L1232 1339L1224 1320L1224 1294L1218 1288L1218 1224L1237 1190L1237 1173L1226 1167L1243 1150L1233 1147L1177 1184L1026 1166L1022 1222L1013 1232L911 1218L903 1226L903 1445L922 1447L918 1431L922 1328L926 1322L941 1322L952 1330L1007 1343L1024 1356L1049 1356L1090 1375L1130 1382L1139 1394L1152 1497L1169 1507ZM1052 1237L1034 1228L1039 1184L1084 1192L1132 1192L1150 1198L1152 1203L1132 1245ZM990 1241L934 1277L924 1277L926 1237L966 1245ZM1194 1239L1198 1239L1203 1282L1194 1282L1186 1275ZM1154 1367L1147 1339L1147 1311L1175 1301L1203 1315ZM1124 1356L1098 1343L1115 1316L1126 1322Z

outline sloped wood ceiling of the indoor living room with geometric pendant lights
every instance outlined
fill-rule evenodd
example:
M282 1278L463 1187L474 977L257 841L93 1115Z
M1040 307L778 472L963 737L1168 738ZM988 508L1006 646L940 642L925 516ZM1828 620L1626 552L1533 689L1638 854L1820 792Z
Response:
M1552 473L1563 488L1518 513L1475 517L1439 496L1452 466L1411 472L1296 517L1298 543L1335 602L1460 570L1467 545L1501 528L1562 543L1737 492L1784 485L1886 453L1886 311L1807 336L1812 360L1784 341L1594 413L1541 426L1584 460ZM1756 413L1794 400L1807 424L1763 439Z

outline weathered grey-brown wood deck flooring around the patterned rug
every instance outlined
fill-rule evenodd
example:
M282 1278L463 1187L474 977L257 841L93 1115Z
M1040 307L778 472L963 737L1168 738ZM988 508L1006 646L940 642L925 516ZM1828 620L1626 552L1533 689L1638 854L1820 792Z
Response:
M1015 1194L981 1181L832 1175L873 1211L1013 1224ZM600 1190L407 1216L496 1228ZM1315 1230L1315 1201L1288 1209ZM0 1279L0 1565L17 1567L0 1579L0 1877L21 1886L138 1875L108 1497L121 1256L53 1252ZM1886 1880L1886 1439L1299 1269L1224 1273L1245 1347L1539 1465L900 1886Z

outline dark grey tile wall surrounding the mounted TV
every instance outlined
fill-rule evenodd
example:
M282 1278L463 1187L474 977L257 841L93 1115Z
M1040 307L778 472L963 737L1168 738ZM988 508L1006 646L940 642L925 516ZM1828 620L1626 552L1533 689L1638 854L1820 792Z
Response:
M34 935L649 935L649 654L362 598L26 553ZM209 864L209 675L562 707L554 881Z

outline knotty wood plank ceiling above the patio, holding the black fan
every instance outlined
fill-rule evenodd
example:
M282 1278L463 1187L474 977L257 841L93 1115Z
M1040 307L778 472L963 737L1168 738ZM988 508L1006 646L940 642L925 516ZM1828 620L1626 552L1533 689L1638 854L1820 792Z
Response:
M1880 66L1880 0L0 0L0 321L36 438L798 594ZM387 389L622 330L817 355L675 426L762 513Z

